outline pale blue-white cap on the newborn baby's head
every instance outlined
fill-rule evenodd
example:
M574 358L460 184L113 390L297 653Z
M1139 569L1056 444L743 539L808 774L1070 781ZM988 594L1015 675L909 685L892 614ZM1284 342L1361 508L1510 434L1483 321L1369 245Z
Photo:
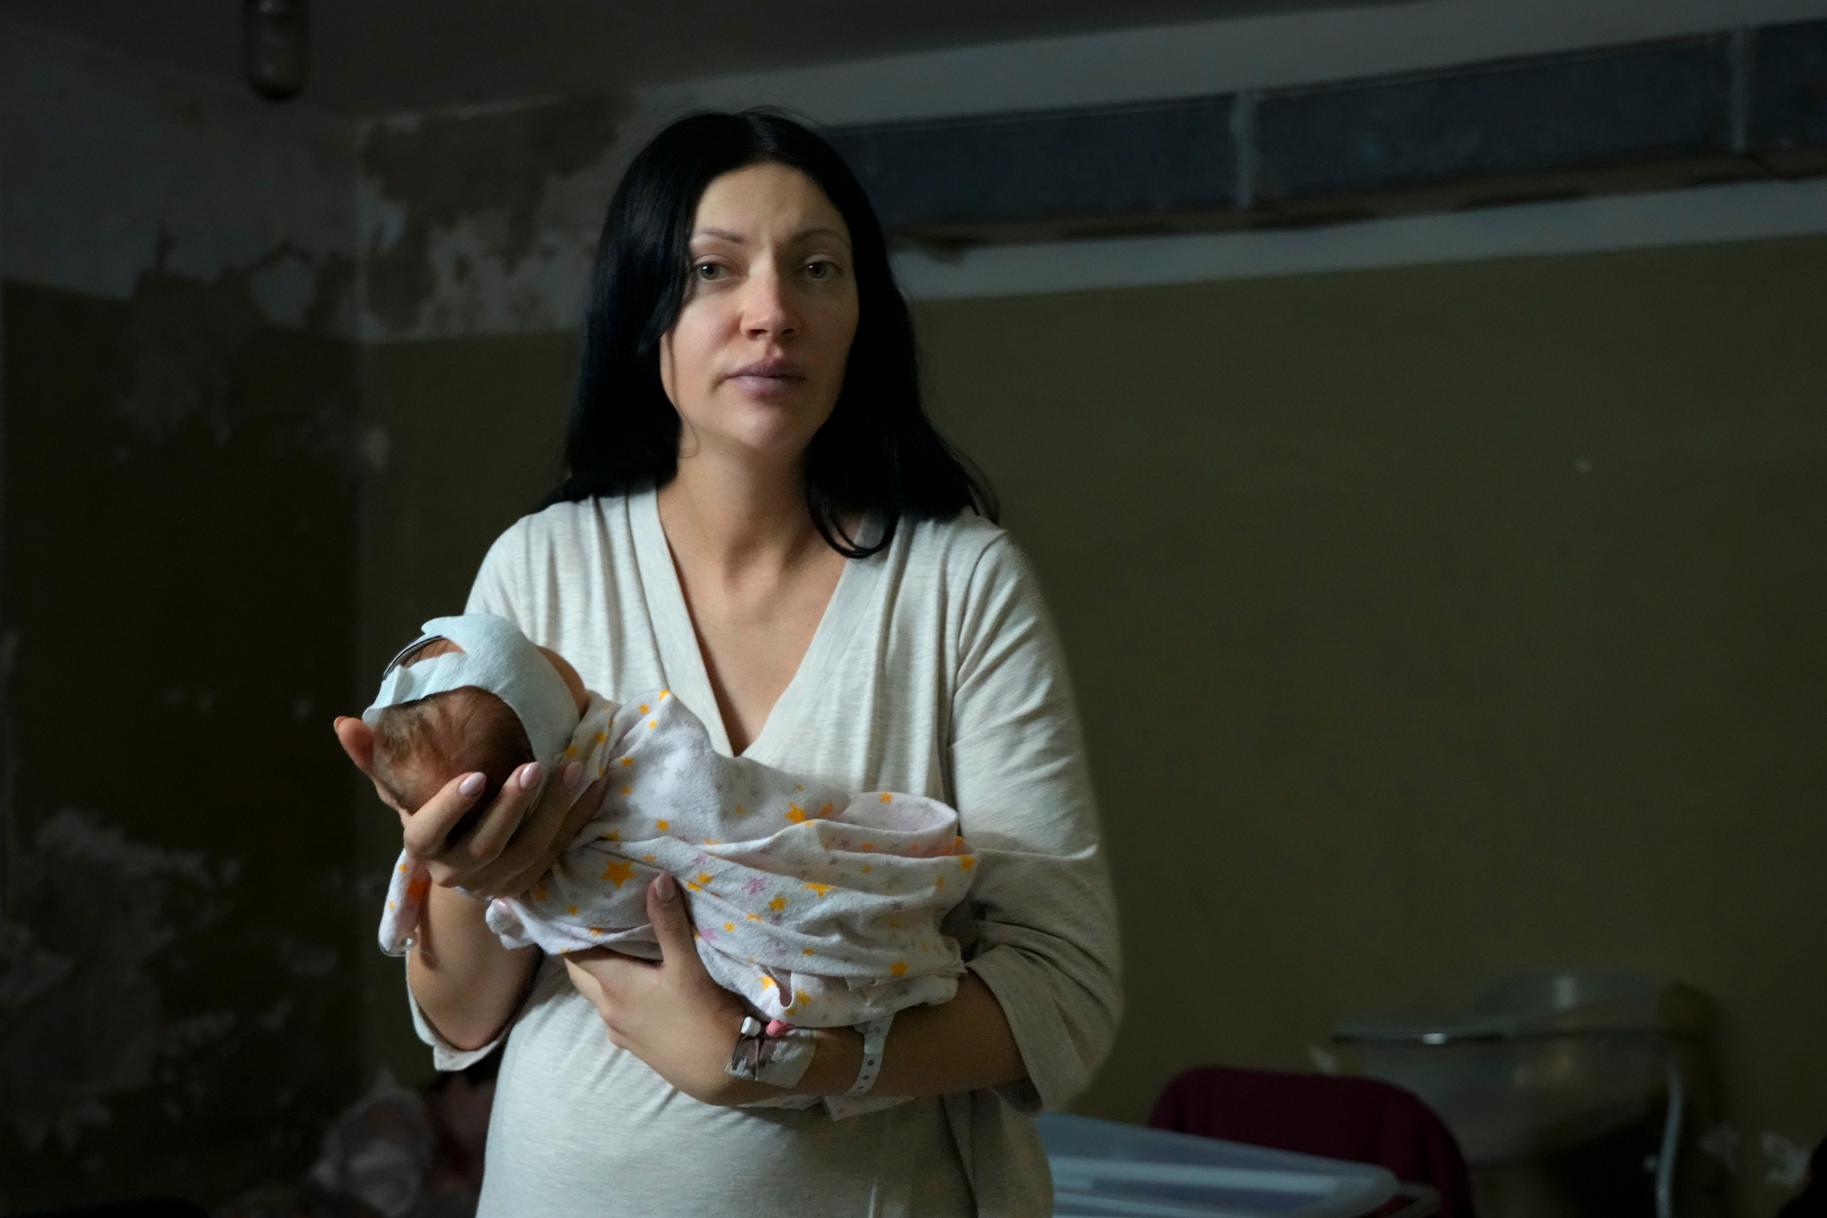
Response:
M495 614L433 617L424 625L424 632L387 665L380 694L375 696L375 705L362 712L362 721L375 727L387 707L473 685L508 703L526 729L533 756L550 774L570 747L579 719L570 687L552 661L541 656L532 639L512 621ZM420 659L411 668L400 665L433 639L449 639L462 652Z

